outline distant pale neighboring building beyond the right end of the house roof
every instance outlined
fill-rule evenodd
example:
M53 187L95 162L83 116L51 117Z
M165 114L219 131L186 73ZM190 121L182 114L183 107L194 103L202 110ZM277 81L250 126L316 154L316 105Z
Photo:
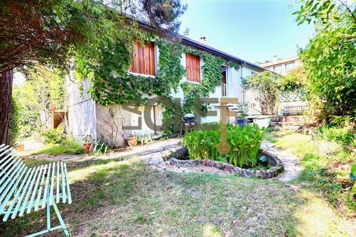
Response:
M273 57L272 62L266 62L263 64L259 64L259 66L262 66L262 67L266 68L267 70L270 70L275 73L279 73L281 75L287 75L288 71L301 66L301 59L299 58L299 56L278 59L277 55L275 55Z

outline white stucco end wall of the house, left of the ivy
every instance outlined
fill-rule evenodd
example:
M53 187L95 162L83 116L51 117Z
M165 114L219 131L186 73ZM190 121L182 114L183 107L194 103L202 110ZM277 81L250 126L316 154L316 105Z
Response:
M83 93L79 90L79 85L73 74L66 77L68 129L69 133L77 140L81 140L86 135L97 138L95 103L88 94L90 82L86 80L82 84Z

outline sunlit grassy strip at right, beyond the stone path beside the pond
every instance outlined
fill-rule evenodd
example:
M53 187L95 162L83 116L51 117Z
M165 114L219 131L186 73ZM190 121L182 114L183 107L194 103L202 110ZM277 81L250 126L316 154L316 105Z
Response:
M303 166L301 181L308 189L322 195L346 216L356 217L356 193L351 190L351 165L356 155L341 145L315 140L306 134L267 134L276 147L288 150L300 158ZM346 179L346 182L339 182Z

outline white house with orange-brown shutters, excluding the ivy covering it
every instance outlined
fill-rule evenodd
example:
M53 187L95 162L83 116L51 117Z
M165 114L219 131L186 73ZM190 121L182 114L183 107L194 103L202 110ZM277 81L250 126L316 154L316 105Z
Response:
M248 102L248 92L242 88L242 79L252 73L264 71L262 66L242 60L234 55L225 53L206 44L205 37L201 42L197 42L187 37L181 38L183 47L190 49L178 55L180 64L186 73L180 79L179 84L189 84L196 86L205 79L204 65L207 65L204 55L212 55L224 61L218 65L221 68L221 81L213 90L209 91L209 98L238 98L238 104L225 105L229 108L227 121L236 121L236 112L239 106ZM160 69L160 46L155 42L145 42L144 45L136 43L133 51L131 65L128 73L147 77L147 80L155 78ZM162 51L161 51L162 53ZM207 57L207 56L206 56ZM220 62L220 61L219 61ZM216 65L215 65L216 66ZM115 146L125 144L125 136L129 134L163 134L162 121L164 120L165 109L159 103L149 103L144 106L135 105L101 105L90 97L88 89L90 82L86 80L78 85L73 79L72 72L66 78L67 104L68 104L68 128L69 132L78 139L86 135L93 138L103 138L103 140ZM79 90L79 86L83 91ZM186 103L186 95L178 86L176 90L171 88L170 96L176 98L181 104ZM202 116L200 123L220 121L220 103L214 101L209 103L209 110L212 116ZM251 108L251 114L255 109ZM256 110L257 111L257 110ZM258 113L258 112L255 112ZM180 120L180 118L176 119Z

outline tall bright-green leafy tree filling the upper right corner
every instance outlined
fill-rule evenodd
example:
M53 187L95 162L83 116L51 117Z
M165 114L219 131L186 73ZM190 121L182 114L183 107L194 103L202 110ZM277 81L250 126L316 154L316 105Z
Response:
M301 50L307 92L314 114L329 123L335 116L356 120L355 2L301 1L299 24L314 23L316 33Z

